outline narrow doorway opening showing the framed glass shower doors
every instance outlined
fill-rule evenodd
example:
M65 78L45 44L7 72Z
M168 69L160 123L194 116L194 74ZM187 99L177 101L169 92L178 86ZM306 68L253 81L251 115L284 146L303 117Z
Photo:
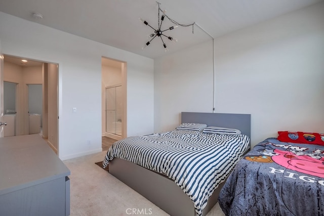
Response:
M126 134L126 63L102 57L102 136L120 140Z

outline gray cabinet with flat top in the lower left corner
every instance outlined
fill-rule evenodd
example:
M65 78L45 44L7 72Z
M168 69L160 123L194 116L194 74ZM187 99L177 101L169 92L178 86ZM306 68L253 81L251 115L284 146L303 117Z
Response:
M0 139L0 215L69 215L70 170L38 134Z

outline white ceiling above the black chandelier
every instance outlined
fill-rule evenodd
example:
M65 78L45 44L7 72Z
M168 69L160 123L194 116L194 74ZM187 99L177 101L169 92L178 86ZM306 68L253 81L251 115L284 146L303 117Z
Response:
M180 24L195 22L164 32L178 39L163 38L169 52L199 44L226 33L263 22L323 0L159 0L161 10ZM165 55L163 42L156 37L142 50L153 29L157 29L157 3L152 0L0 0L0 11L32 22L89 38L149 58ZM32 13L41 13L35 19ZM161 30L174 26L165 19ZM208 33L206 33L204 30Z

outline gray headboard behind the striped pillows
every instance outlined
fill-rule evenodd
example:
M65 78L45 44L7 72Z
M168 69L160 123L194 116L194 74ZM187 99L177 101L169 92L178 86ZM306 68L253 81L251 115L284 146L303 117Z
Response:
M250 137L251 114L181 112L181 123L205 123L208 126L236 128Z

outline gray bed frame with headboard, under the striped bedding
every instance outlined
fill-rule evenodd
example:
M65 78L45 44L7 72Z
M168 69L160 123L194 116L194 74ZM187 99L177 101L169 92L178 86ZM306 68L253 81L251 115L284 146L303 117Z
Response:
M182 112L181 123L205 123L208 126L237 128L242 134L249 136L251 141L251 114ZM109 173L170 215L195 215L192 200L174 181L164 175L119 158L109 162ZM220 184L209 198L203 215L217 203L224 184L225 182Z

